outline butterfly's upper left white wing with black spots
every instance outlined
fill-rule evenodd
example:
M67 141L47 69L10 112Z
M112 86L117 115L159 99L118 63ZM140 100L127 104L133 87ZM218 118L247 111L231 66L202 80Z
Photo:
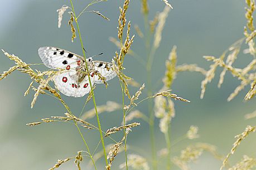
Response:
M82 60L81 56L56 47L40 47L38 55L50 69L75 70L75 67Z

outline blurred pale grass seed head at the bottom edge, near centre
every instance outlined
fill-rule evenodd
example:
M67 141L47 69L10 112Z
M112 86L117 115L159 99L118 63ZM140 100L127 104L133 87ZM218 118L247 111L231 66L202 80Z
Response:
M124 169L125 167L125 162L119 166L120 169ZM147 159L137 154L128 154L128 167L132 167L133 169L149 170Z

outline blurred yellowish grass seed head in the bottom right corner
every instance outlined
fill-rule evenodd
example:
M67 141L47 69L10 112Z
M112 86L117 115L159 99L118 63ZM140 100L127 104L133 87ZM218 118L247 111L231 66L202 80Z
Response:
M241 161L236 163L233 167L229 168L228 170L250 170L255 167L256 167L256 159L244 155Z

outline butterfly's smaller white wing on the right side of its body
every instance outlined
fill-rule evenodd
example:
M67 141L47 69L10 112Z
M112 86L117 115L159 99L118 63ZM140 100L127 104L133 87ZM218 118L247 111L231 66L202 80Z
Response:
M113 79L117 74L112 70L112 64L109 62L103 62L103 61L93 61L94 62L94 69L96 71L99 71L100 74L106 78L106 81L109 81ZM99 79L97 75L95 75L95 81L96 84L102 84L103 81Z

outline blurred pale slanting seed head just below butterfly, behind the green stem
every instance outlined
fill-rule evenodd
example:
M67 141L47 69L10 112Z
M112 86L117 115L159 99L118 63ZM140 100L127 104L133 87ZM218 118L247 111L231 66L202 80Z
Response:
M97 106L98 114L103 113L104 111L112 112L115 110L119 110L122 106L114 101L107 101L105 105ZM81 115L82 120L90 119L95 116L95 109L91 109L86 111L83 115Z

